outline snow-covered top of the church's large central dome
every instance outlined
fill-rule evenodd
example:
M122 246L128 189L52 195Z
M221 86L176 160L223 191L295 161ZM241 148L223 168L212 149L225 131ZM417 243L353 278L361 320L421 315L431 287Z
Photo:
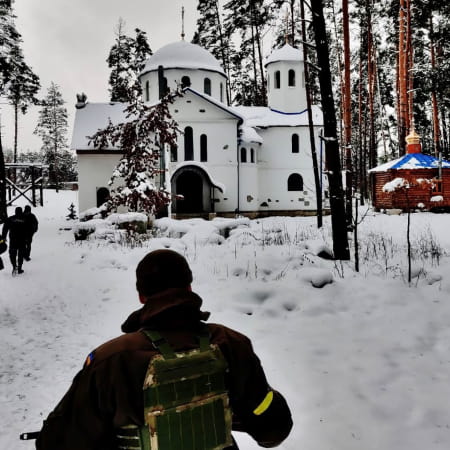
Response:
M186 41L173 42L161 47L147 60L141 75L164 69L202 69L225 75L219 61L207 50Z

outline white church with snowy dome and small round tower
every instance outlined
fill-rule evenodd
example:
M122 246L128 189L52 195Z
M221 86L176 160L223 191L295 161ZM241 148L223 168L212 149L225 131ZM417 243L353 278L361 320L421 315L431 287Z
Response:
M140 74L144 101L154 104L167 88L184 87L184 95L170 105L182 131L166 161L174 217L316 213L302 52L286 44L272 52L265 67L268 107L234 107L227 104L226 75L219 61L198 45L168 44L147 60ZM108 198L108 181L121 156L117 148L94 148L88 136L106 127L109 119L126 120L124 106L76 105L71 147L78 158L80 211ZM317 106L313 121L322 167L323 118Z

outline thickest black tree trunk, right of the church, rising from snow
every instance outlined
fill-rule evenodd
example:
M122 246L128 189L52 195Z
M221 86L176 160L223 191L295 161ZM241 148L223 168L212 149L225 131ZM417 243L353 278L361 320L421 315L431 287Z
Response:
M344 193L342 189L339 142L337 139L336 110L331 82L329 48L327 42L322 0L311 3L312 26L320 67L319 84L324 117L325 156L330 189L331 225L335 259L349 260Z

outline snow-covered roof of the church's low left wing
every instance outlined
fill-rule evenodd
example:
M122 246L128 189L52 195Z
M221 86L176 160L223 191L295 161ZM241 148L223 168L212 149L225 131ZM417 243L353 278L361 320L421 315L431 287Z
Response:
M113 124L124 122L126 107L126 103L119 102L86 103L86 106L77 109L70 148L73 150L94 149L93 144L89 144L88 136L105 128L108 125L108 119L111 119Z

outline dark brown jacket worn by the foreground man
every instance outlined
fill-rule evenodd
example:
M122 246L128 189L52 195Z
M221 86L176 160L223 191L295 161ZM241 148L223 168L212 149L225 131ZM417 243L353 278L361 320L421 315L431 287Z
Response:
M44 422L38 450L113 450L115 428L144 424L142 387L156 350L139 330L158 330L175 350L195 348L208 313L201 298L187 289L170 289L150 297L122 325L124 335L106 342L87 358L72 386ZM211 342L229 365L227 386L233 429L250 434L259 445L280 444L292 428L289 407L274 391L269 407L254 410L271 390L250 340L222 325L209 324Z

